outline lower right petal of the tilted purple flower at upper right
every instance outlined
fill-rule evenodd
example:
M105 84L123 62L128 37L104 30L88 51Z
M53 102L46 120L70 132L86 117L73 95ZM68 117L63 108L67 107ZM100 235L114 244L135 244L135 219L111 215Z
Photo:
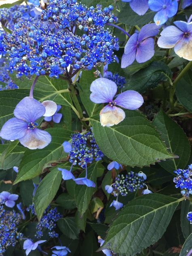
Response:
M137 48L136 60L139 63L146 62L153 57L154 53L154 38L149 37L143 40Z

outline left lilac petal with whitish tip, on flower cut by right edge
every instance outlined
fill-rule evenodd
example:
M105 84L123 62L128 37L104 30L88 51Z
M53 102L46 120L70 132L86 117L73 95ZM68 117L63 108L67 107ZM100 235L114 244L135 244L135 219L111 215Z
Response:
M157 44L165 49L173 48L183 38L183 32L175 26L165 28L160 35Z

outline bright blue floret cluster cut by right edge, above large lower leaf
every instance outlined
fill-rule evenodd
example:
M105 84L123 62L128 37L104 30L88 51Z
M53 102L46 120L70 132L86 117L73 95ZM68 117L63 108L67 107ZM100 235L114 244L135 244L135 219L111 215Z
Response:
M180 188L181 194L186 198L189 197L189 194L192 194L192 164L188 167L186 170L178 169L174 171L177 176L173 179L173 182L176 183L175 188Z

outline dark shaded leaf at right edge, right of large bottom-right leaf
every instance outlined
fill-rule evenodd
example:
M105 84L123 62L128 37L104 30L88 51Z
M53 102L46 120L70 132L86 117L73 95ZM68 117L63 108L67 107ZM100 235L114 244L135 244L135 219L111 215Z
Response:
M181 229L185 239L192 233L192 224L187 219L187 214L189 211L192 211L192 202L185 200L181 205Z

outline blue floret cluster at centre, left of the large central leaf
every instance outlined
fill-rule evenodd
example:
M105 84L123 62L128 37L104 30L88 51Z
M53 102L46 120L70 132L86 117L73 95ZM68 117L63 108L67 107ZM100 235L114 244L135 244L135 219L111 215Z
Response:
M76 165L78 162L79 166L85 169L87 164L93 162L94 158L98 161L104 157L92 131L86 134L81 134L80 132L72 134L71 139L72 149L69 152L69 162L73 165Z

